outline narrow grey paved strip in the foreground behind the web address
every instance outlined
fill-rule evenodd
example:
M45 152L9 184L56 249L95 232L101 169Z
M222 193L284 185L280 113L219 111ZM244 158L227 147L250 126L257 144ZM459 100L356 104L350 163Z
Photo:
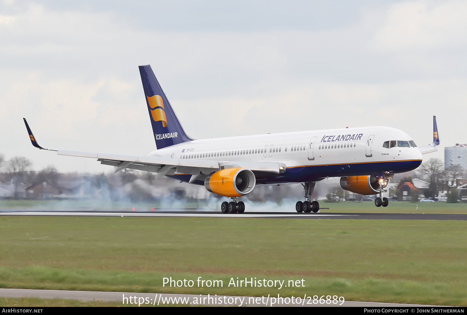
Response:
M67 299L81 301L122 301L125 304L138 304L133 301L140 301L142 305L182 304L182 305L211 305L211 306L294 306L294 307L384 307L384 308L426 308L435 305L418 304L396 304L377 302L354 302L344 301L338 303L313 303L312 299L300 298L300 303L292 303L287 300L278 301L276 297L248 297L248 296L228 296L228 295L195 295L195 294L159 294L159 293L132 293L132 292L99 292L99 291L65 291L65 290L30 290L30 289L0 289L0 296L21 297L21 298L42 298L42 299ZM132 299L129 299L129 297ZM126 300L124 299L126 298ZM274 299L274 300L273 300ZM175 303L176 301L176 303ZM281 304L282 301L282 304ZM439 307L439 306L438 306ZM441 306L442 307L442 306Z

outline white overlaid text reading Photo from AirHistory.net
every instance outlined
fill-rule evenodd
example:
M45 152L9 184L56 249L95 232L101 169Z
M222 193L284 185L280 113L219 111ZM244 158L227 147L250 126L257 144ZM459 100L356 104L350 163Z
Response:
M162 279L162 286L165 287L193 287L195 284L197 287L224 287L223 280L204 280L202 277L198 277L198 280L173 280L170 278ZM234 279L230 278L227 287L276 287L281 289L282 287L304 287L305 280L267 280L267 279L256 279L251 277L250 279Z

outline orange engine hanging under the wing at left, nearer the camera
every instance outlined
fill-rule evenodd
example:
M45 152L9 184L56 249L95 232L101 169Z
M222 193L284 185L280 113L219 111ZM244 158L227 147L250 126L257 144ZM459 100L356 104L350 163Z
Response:
M240 197L255 188L255 174L248 168L226 168L205 179L205 188L214 194L226 197Z

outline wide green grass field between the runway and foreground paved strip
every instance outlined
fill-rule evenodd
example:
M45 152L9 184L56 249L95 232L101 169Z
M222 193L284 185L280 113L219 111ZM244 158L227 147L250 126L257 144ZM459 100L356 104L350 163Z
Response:
M467 222L0 217L0 287L467 305ZM163 277L223 287L163 287ZM227 287L230 278L305 287ZM40 305L40 304L39 304Z

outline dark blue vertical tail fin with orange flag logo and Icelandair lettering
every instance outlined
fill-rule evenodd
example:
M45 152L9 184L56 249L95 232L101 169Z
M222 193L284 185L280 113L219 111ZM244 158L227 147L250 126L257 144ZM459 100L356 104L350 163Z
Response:
M139 68L156 147L162 149L193 140L183 130L151 66Z

